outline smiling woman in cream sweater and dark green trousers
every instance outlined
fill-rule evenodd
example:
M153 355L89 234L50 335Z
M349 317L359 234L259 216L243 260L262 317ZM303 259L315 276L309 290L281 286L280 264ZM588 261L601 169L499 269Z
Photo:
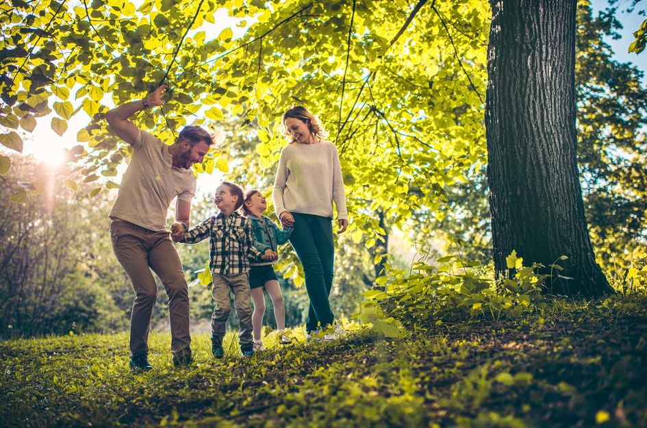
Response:
M324 140L314 115L296 106L283 114L290 144L281 151L274 184L274 205L283 227L294 227L290 243L303 264L310 299L305 324L306 340L329 329L335 320L328 296L333 285L333 201L337 207L338 234L348 227L346 195L337 147ZM339 338L336 326L325 340Z

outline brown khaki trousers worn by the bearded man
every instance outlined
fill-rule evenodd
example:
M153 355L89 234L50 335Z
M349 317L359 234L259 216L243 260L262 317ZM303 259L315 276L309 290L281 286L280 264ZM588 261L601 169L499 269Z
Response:
M191 344L189 294L182 263L168 231L152 231L127 221L110 224L112 249L126 270L136 297L130 318L131 356L148 353L151 316L157 298L157 284L151 269L160 277L168 294L170 350L180 353Z

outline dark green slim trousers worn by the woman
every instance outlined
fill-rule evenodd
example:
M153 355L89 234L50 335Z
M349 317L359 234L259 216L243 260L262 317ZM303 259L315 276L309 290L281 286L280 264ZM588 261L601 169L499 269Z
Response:
M328 296L333 286L335 247L332 219L293 212L294 231L290 243L305 273L305 289L310 299L305 330L327 327L335 320Z

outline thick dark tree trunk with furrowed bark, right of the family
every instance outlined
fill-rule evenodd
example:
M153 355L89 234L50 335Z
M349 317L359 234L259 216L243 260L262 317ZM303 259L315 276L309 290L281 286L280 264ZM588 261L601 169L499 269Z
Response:
M595 262L576 164L576 0L491 0L485 127L494 268L566 268L548 292L612 292ZM559 260L561 255L568 260Z

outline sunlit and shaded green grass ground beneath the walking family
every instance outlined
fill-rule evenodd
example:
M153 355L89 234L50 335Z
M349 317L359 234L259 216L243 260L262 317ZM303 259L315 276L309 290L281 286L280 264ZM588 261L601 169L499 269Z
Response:
M382 340L239 357L192 343L173 368L151 334L149 373L133 375L127 334L0 342L2 427L644 427L647 299L557 301L543 316L409 326Z

